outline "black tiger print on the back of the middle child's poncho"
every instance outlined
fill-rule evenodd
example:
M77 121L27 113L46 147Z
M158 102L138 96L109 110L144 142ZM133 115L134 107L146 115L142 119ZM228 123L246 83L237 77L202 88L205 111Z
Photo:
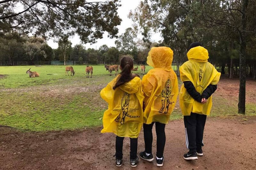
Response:
M172 100L172 97L174 95L171 95L171 92L172 92L172 85L171 85L171 80L168 79L165 83L165 87L162 91L162 107L161 109L159 110L159 113L168 113L168 110L169 110L169 105L172 103L174 103L174 101L170 101Z

